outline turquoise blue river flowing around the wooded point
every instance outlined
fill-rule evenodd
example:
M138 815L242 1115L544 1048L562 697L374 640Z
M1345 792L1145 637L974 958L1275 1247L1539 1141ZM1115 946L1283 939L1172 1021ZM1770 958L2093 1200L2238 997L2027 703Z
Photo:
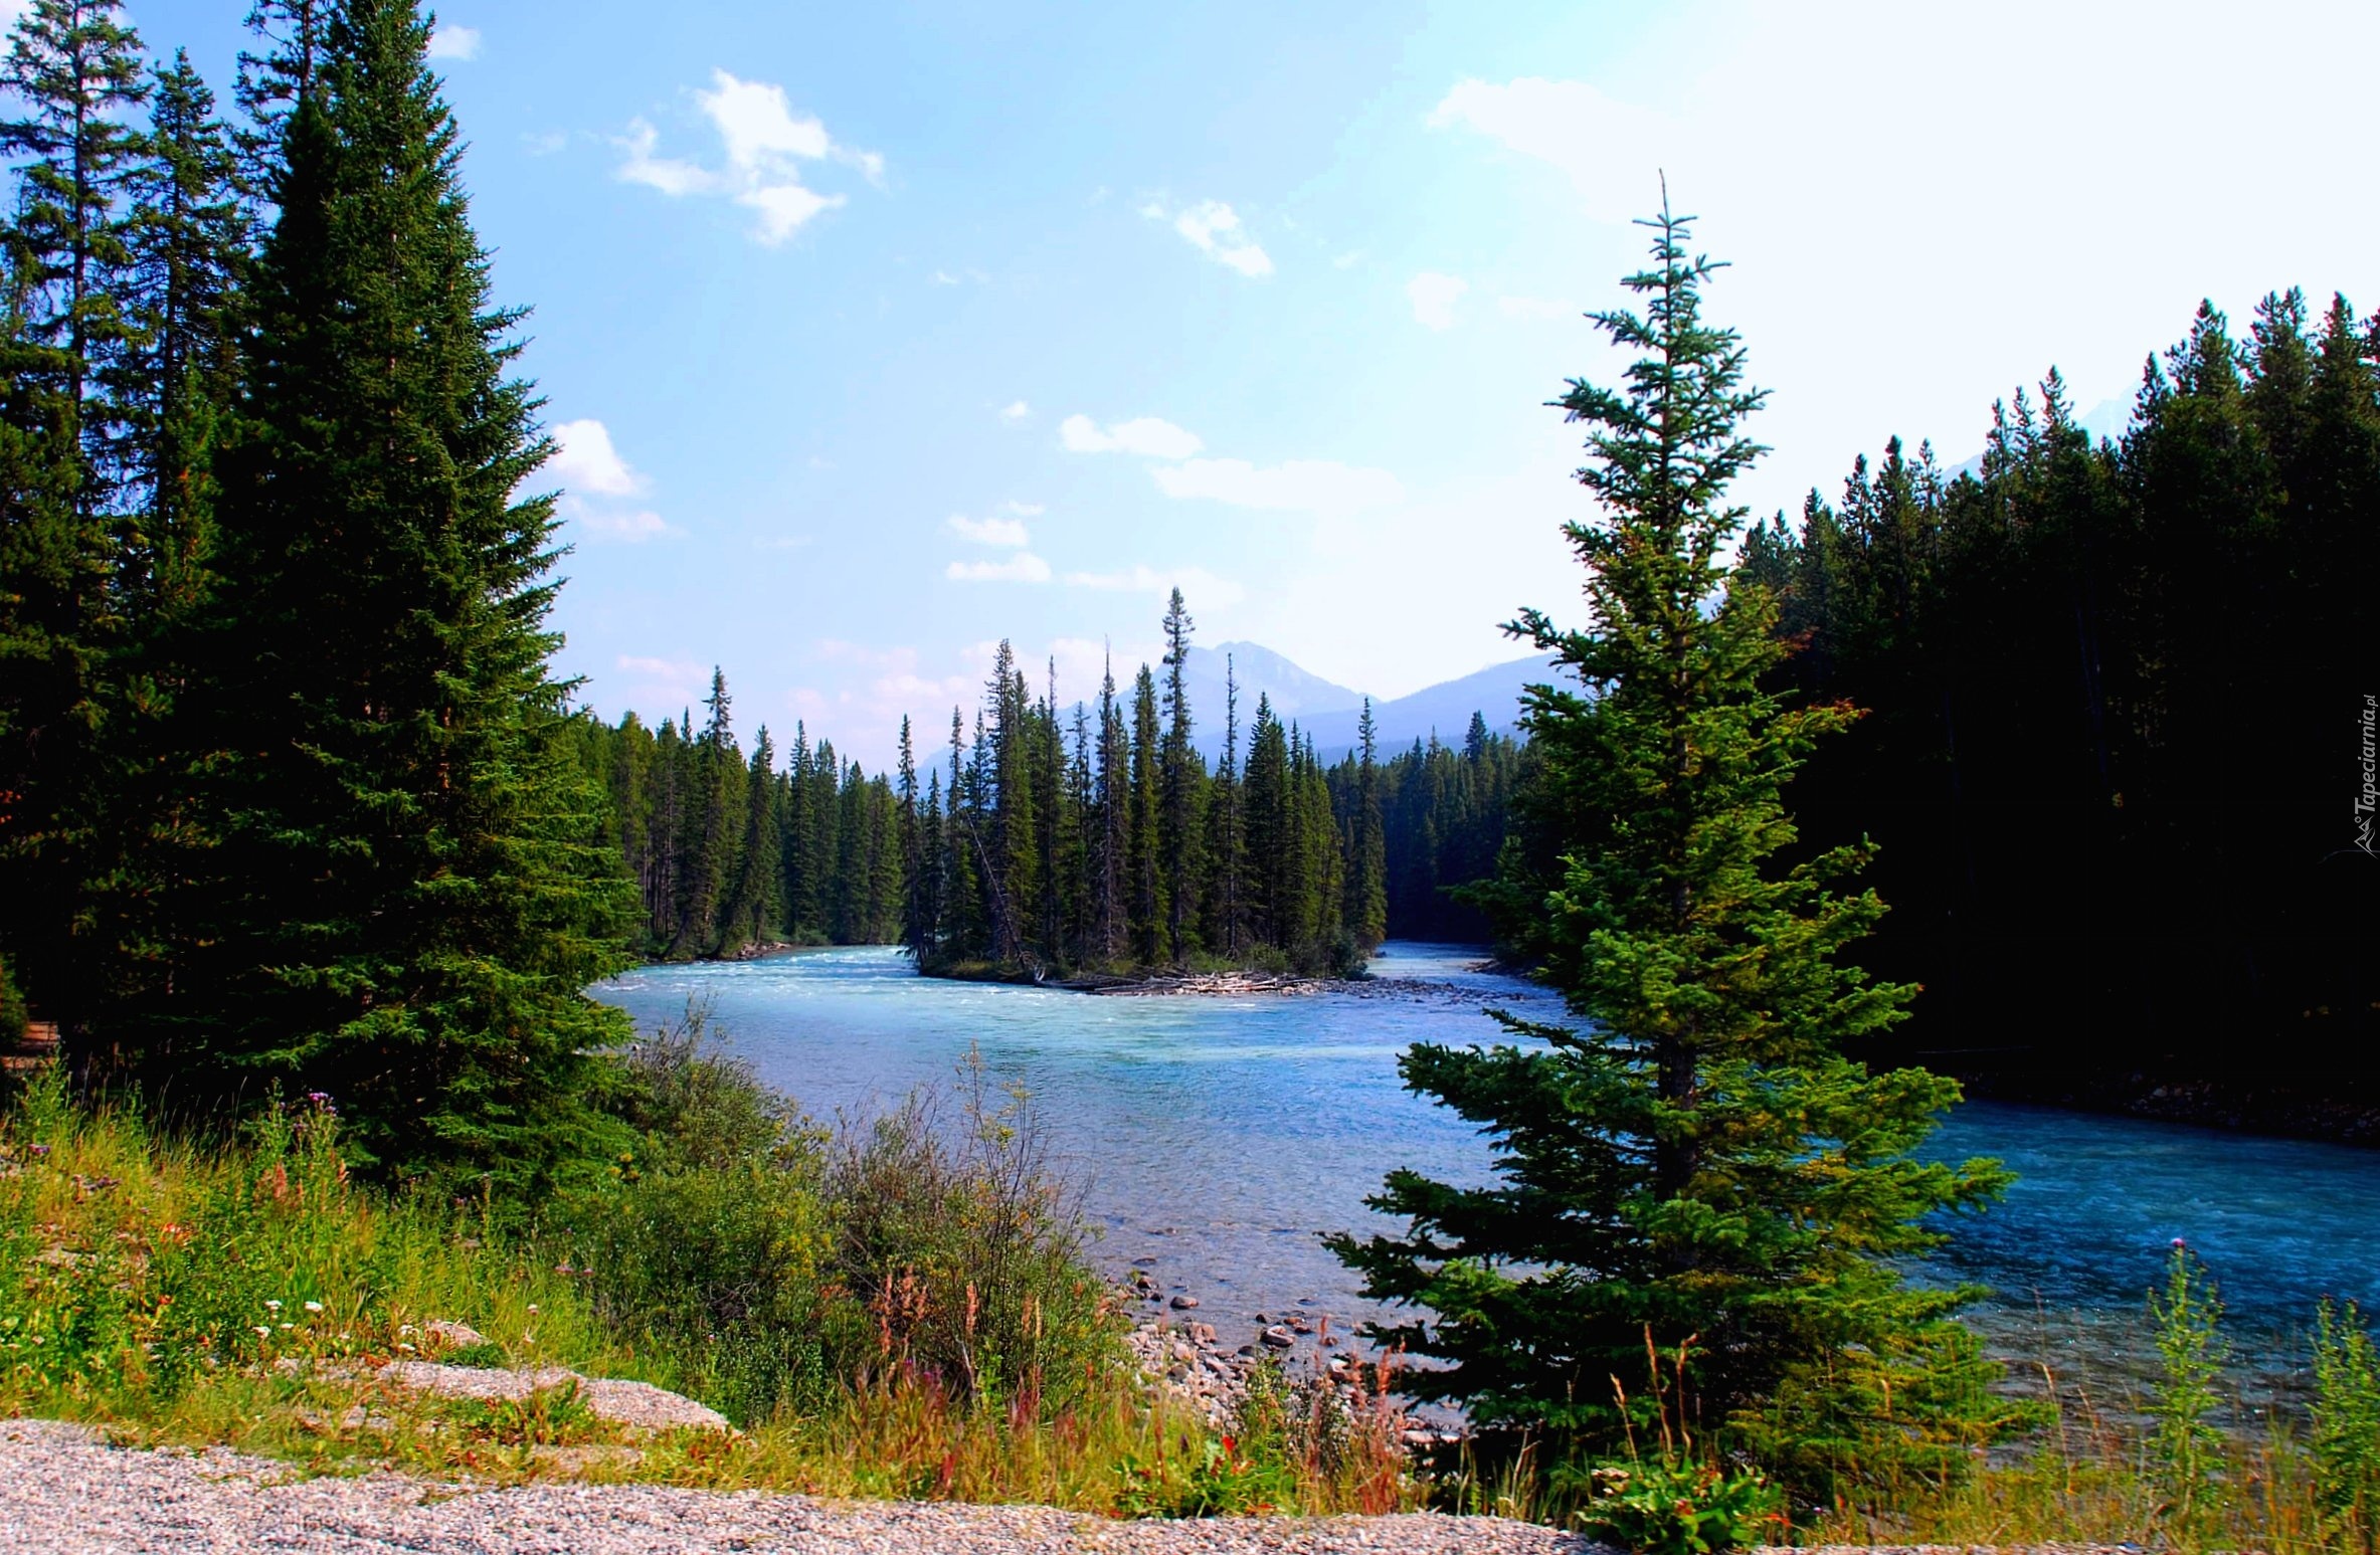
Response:
M1485 1179L1471 1127L1397 1079L1411 1041L1502 1039L1488 1006L1559 1018L1478 956L1390 942L1376 987L1095 999L919 977L857 946L652 965L597 996L645 1030L707 1001L728 1046L814 1118L947 1087L981 1053L1085 1184L1102 1263L1197 1296L1230 1334L1299 1303L1342 1327L1371 1315L1316 1232L1390 1227L1364 1208L1390 1167ZM2002 1103L1959 1108L1935 1148L2021 1175L1918 1270L1992 1286L1975 1322L2011 1358L2137 1370L2142 1293L2175 1236L2218 1277L2249 1377L2301 1365L2323 1296L2380 1310L2380 1153Z

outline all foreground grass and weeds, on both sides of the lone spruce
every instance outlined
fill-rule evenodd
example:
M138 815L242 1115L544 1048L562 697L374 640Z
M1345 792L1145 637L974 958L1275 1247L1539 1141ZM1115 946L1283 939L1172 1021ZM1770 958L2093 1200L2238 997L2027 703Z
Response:
M328 1098L195 1144L131 1110L76 1108L55 1072L38 1077L0 1115L0 1412L307 1472L1123 1517L1595 1515L1585 1481L1526 1443L1411 1465L1385 1358L1352 1405L1326 1381L1259 1370L1226 1429L1152 1389L1031 1108L981 1070L952 1096L819 1127L724 1058L693 1011L624 1058L614 1101L643 1144L602 1186L514 1229L495 1205L352 1182ZM2221 1429L2221 1301L2187 1248L2152 1315L2163 1372L2140 1396L2102 1408L2042 1365L2047 1424L2021 1450L1956 1481L1797 1507L1790 1536L2380 1555L2380 1351L2363 1317L2325 1308L2311 1405L2242 1431ZM483 1343L440 1351L438 1322ZM652 1381L740 1429L631 1438L571 1386L466 1403L374 1379L412 1355ZM1704 1481L1714 1507L1749 1496L1671 1467L1685 1498Z

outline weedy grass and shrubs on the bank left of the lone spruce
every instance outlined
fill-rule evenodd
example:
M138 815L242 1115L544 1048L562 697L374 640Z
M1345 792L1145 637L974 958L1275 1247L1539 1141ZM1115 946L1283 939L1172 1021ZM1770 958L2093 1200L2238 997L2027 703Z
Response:
M45 1075L0 1120L0 1412L309 1472L1104 1515L1416 1503L1385 1405L1273 1379L1214 1431L1154 1391L1031 1110L985 1091L978 1072L954 1101L816 1127L695 1013L624 1063L645 1146L507 1232L490 1205L350 1182L328 1098L202 1146ZM486 1343L440 1351L433 1322ZM631 1438L571 1386L490 1405L374 1379L416 1355L652 1381L740 1429Z

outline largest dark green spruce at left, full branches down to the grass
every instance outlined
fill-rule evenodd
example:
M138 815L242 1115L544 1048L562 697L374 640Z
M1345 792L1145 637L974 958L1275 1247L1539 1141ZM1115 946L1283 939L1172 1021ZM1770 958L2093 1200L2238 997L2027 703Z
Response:
M347 0L286 124L224 461L212 737L217 937L148 1032L176 1096L328 1091L388 1177L536 1191L583 1158L581 989L624 882L547 671L552 452L409 0Z

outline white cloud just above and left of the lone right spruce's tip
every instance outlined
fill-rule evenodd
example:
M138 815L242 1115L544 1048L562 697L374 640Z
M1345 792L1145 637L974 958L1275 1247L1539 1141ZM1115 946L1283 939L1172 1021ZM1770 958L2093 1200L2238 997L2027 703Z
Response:
M1614 102L1585 81L1457 81L1430 109L1428 124L1461 124L1526 157L1552 162L1568 174L1587 214L1599 221L1635 216L1647 197L1645 169L1661 164L1664 150L1676 152L1666 114Z

